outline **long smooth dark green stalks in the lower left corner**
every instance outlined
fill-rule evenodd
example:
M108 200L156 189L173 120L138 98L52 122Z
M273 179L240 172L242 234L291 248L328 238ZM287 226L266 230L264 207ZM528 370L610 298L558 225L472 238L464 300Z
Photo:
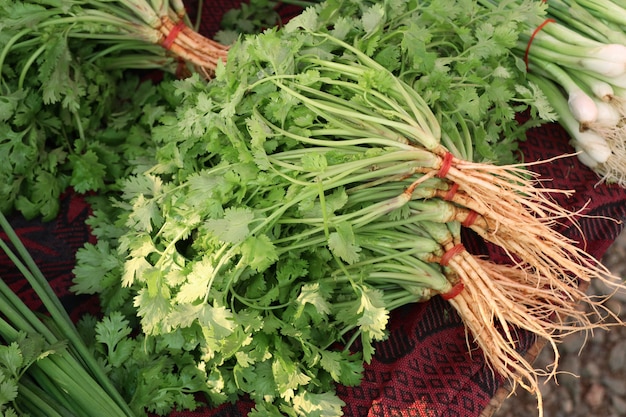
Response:
M33 416L133 416L1 213L0 227L8 236L8 242L0 240L0 248L33 287L50 315L42 318L31 311L0 281L0 338L3 347L20 352L19 360L2 364L12 370L8 376L17 387L9 406ZM3 356L5 360L8 357Z

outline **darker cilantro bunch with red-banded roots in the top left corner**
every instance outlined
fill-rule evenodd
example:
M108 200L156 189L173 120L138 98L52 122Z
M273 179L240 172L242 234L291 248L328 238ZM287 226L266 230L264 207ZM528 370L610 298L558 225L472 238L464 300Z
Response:
M129 70L208 76L227 53L180 1L3 1L0 20L0 207L29 218L54 218L68 186L104 191L142 152L153 92Z

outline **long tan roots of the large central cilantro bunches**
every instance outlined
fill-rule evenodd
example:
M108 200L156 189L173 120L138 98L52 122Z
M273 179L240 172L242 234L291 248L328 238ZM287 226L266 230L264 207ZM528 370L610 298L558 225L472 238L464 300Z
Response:
M604 302L587 296L581 282L600 279L622 288L600 262L577 242L556 231L557 222L575 224L581 213L559 207L550 195L568 193L538 186L523 165L493 166L453 160L446 179L453 195L437 191L456 206L454 220L485 241L502 248L510 263L501 265L467 251L448 263L464 290L449 302L458 311L468 336L480 346L495 372L535 394L541 413L540 376L558 372L558 344L564 336L622 324ZM471 216L471 224L467 220ZM455 242L441 242L450 250ZM590 312L589 312L590 311ZM611 323L609 323L609 321ZM519 351L519 330L544 339L554 351L549 370L535 369Z

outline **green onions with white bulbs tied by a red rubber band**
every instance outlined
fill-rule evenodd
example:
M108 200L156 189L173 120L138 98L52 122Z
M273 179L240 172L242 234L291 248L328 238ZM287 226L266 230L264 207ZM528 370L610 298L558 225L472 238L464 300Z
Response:
M625 22L626 7L619 1L546 2L545 19L528 21L517 48L534 80L558 87L542 83L580 161L601 181L621 186L626 186Z

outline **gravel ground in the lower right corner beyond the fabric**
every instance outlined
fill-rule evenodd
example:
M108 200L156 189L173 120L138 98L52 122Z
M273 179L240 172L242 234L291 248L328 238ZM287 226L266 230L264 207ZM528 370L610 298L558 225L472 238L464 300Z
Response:
M626 279L626 230L603 258L616 275ZM592 284L588 294L606 294L601 284ZM626 291L609 301L611 311L626 321ZM552 359L543 349L535 364L545 367ZM626 326L569 336L560 346L560 370L565 374L542 384L544 417L622 417L626 416ZM571 374L567 374L571 373ZM537 416L533 396L523 389L507 398L494 417Z

